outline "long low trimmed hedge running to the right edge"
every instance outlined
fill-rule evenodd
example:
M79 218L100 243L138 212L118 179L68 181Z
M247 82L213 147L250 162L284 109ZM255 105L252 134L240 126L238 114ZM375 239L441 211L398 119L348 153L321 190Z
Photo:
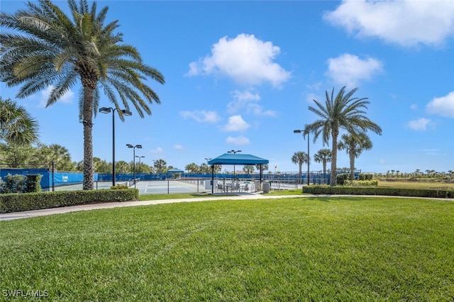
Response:
M406 189L380 186L303 186L303 193L454 198L454 190Z

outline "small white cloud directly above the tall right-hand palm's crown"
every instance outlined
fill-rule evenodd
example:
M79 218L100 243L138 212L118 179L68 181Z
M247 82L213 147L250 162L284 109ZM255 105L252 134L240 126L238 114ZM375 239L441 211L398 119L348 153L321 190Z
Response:
M345 53L339 57L328 59L326 74L334 82L343 86L354 87L363 79L382 71L382 62L372 57L361 60L356 55Z

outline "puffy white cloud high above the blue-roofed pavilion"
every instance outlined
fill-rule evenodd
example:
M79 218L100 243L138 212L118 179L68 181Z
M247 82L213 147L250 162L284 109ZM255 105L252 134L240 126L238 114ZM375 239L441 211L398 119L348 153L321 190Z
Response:
M270 82L280 86L290 77L279 64L273 62L280 48L254 35L241 33L236 38L223 37L211 47L211 55L189 64L187 76L221 74L238 84L258 85Z

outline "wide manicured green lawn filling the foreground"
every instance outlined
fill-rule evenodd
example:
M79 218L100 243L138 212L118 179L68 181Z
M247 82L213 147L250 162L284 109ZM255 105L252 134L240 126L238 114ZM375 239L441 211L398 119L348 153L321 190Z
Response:
M204 201L1 221L0 295L453 301L454 202Z

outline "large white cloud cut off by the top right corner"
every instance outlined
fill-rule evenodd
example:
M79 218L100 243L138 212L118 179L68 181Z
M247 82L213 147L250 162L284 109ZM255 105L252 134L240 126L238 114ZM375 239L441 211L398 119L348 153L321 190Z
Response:
M323 17L358 37L403 46L440 45L454 33L454 1L344 0Z

